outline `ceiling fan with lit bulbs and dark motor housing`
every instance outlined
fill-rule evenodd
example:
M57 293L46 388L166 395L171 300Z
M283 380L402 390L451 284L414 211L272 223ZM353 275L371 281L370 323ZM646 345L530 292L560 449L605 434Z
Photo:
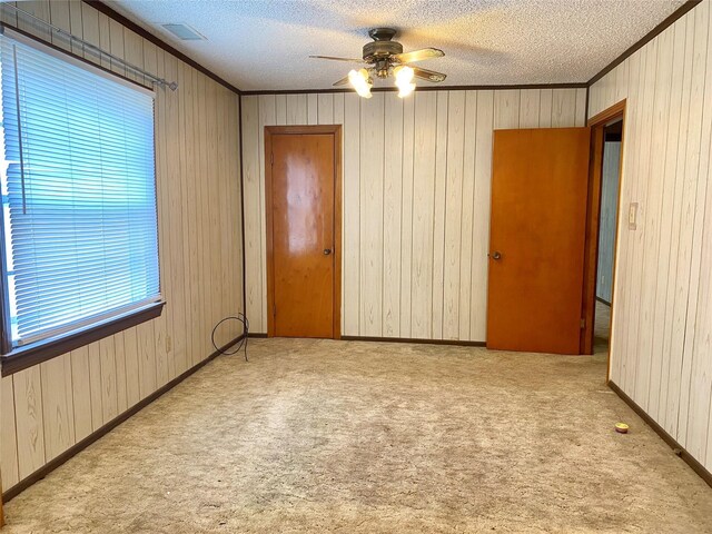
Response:
M380 79L386 79L389 76L395 77L398 96L400 98L411 95L415 90L413 78L432 82L445 80L446 76L442 72L408 65L425 59L442 58L445 56L445 52L437 48L423 48L412 52L404 52L403 44L393 40L395 34L396 30L393 28L374 28L370 30L368 36L370 36L374 41L364 44L363 59L335 58L333 56L309 57L368 65L369 67L352 70L348 76L334 83L334 87L350 83L354 89L356 89L356 92L364 98L370 98L372 96L370 88L374 85L374 76Z

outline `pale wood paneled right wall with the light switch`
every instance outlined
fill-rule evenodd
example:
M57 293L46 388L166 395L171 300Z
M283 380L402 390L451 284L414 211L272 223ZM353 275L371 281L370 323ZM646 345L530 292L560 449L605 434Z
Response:
M711 14L700 3L596 82L589 110L627 99L611 378L710 471Z

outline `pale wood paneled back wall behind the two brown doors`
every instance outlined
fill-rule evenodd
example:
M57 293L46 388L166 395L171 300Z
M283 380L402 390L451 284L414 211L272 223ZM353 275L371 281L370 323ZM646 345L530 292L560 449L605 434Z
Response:
M343 335L483 342L492 132L583 126L585 92L243 97L253 330L267 332L265 126L344 125Z

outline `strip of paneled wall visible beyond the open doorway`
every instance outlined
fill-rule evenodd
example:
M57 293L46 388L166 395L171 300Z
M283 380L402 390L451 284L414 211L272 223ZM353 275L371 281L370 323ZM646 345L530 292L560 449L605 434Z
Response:
M601 184L601 226L599 227L599 270L596 297L611 301L613 291L613 253L619 208L619 174L621 142L607 141L603 149L603 179Z

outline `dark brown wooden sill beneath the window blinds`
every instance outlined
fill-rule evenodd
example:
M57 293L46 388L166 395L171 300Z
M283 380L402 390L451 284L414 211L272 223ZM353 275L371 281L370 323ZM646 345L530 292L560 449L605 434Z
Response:
M132 326L159 317L165 301L156 303L131 314L109 319L99 325L89 326L81 330L71 332L60 337L38 342L27 347L16 348L2 356L2 376L10 376L20 370L67 354L76 348L98 342Z

